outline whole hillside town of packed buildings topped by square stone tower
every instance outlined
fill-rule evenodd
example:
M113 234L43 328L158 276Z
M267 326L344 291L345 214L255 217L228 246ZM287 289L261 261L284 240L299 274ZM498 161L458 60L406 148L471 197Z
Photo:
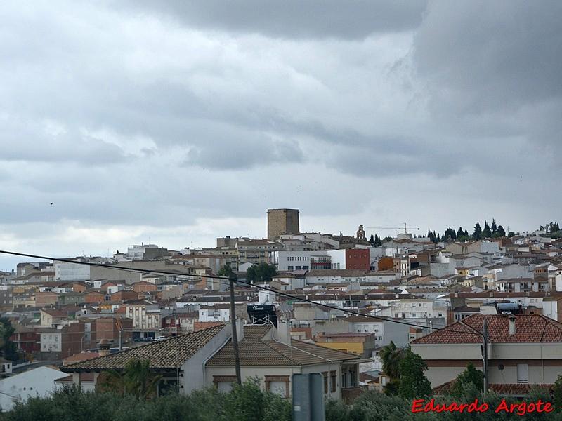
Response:
M267 218L263 239L141 244L111 258L22 261L2 272L0 311L13 331L1 382L24 398L34 381L36 391L93 390L105 370L140 359L162 375L162 388L228 391L234 325L242 377L282 396L293 373L322 373L334 399L382 391L392 379L379 352L391 344L419 354L438 391L466 363L482 367L473 332L484 321L490 389L524 396L562 374L558 224L516 234L493 221L473 234L423 236L405 225L381 239L363 225L354 235L301 232L296 209L270 209ZM1 399L10 408L9 396Z

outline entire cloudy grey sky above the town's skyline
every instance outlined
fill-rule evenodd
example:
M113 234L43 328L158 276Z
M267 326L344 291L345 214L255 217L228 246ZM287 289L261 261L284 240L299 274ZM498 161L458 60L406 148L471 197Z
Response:
M562 220L561 1L11 1L0 56L3 249Z

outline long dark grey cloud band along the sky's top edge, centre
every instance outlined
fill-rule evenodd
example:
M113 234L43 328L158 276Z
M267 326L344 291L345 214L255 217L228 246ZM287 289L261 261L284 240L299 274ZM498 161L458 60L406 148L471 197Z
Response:
M296 39L360 39L374 32L412 29L426 7L425 0L135 0L131 4L192 27Z

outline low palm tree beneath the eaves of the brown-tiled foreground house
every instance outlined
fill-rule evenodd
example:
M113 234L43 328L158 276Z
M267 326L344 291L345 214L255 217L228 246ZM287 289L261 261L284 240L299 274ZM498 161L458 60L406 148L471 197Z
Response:
M150 372L150 361L129 360L124 370L107 370L101 389L119 396L131 394L138 399L148 399L157 394L158 382L162 375Z

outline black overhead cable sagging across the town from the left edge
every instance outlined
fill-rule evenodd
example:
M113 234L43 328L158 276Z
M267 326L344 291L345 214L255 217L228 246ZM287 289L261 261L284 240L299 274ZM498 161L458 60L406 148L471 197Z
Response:
M109 266L109 265L104 265L103 263L79 262L77 260L72 260L72 259L53 258L53 257L49 257L49 256L32 255L32 254L27 254L27 253L17 253L15 251L8 251L8 250L0 250L0 253L8 254L8 255L21 256L21 257L25 257L25 258L34 258L34 259L41 259L41 260L53 260L53 262L57 261L57 262L74 263L74 264L77 264L77 265L88 265L88 266L93 266L93 267L103 267L105 269L123 270L123 271L128 271L128 272L142 272L144 274L165 274L165 275L170 275L170 276L197 276L197 277L200 277L200 278L208 278L208 279L222 279L224 281L228 281L228 285L230 285L230 278L228 278L228 276L178 274L176 272L158 270L158 269L153 270L153 269L140 269L140 268L133 268L133 267ZM302 301L302 302L308 302L308 303L313 304L313 305L318 305L318 306L321 306L321 307L337 310L337 311L348 313L348 314L354 314L355 316L363 316L363 317L375 319L375 320L378 320L378 321L388 321L390 323L402 324L402 325L405 325L405 326L412 326L412 327L415 327L415 328L429 328L431 330L443 330L443 331L446 331L446 332L462 333L463 335L480 335L480 336L483 335L483 333L479 333L476 329L473 329L473 330L475 330L475 332L472 333L472 332L467 332L466 330L455 330L455 329L450 329L450 328L436 328L436 327L433 327L433 326L419 325L419 324L416 324L416 323L410 323L410 322L407 322L407 321L399 321L399 320L396 320L396 319L386 319L385 317L373 316L372 314L363 314L363 313L360 313L360 312L355 312L355 311L350 310L350 309L343 309L341 307L336 307L336 306L333 306L333 305L324 304L322 302L309 300L308 298L302 298L302 297L299 297L297 295L291 295L291 294L283 293L282 291L277 291L277 290L274 290L274 289L271 289L271 288L267 288L265 286L258 286L258 285L255 285L253 283L249 283L247 281L236 281L236 282L242 283L242 284L247 285L247 286L251 286L253 288L266 290L266 291L269 291L271 293L275 293L277 295L282 295L284 297L291 298L292 300L299 300L299 301ZM226 285L227 283L225 282L224 284Z

